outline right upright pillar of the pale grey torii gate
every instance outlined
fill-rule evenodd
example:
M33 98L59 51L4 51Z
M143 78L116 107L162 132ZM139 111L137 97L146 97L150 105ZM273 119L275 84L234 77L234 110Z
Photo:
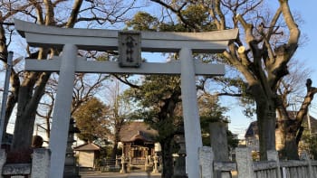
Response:
M195 63L191 49L182 48L179 52L181 98L183 105L186 168L189 178L199 177L198 148L201 147L201 129L197 104Z

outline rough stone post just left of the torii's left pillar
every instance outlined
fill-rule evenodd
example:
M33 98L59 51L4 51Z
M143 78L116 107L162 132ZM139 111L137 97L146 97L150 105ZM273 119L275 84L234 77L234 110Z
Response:
M48 178L51 151L45 148L34 149L31 178Z

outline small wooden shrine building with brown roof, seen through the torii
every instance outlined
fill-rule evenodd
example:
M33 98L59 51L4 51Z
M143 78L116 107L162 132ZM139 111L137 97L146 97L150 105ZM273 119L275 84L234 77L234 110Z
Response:
M120 142L122 144L121 163L130 169L147 170L154 163L155 137L158 131L144 122L130 122L120 129Z

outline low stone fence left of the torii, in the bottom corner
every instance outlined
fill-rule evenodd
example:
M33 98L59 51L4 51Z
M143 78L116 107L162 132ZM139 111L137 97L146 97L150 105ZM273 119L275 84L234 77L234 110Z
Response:
M0 177L48 178L51 152L49 149L34 149L32 163L6 164L5 150L0 150Z

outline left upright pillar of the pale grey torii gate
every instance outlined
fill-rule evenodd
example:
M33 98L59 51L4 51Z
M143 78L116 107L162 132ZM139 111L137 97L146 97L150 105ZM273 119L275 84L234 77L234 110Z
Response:
M62 49L60 77L53 110L50 149L52 150L50 178L63 174L67 138L71 117L73 81L77 60L77 47L65 44ZM56 176L57 175L57 176ZM62 176L61 176L62 177Z

